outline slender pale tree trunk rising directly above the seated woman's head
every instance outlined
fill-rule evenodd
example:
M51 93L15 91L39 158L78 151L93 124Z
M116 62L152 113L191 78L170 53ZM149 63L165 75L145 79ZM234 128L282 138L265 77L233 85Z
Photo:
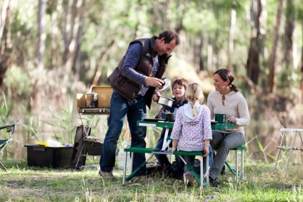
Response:
M234 71L232 69L232 54L234 52L234 28L236 26L237 12L232 9L230 13L230 26L229 26L229 40L228 40L228 50L227 50L227 69Z

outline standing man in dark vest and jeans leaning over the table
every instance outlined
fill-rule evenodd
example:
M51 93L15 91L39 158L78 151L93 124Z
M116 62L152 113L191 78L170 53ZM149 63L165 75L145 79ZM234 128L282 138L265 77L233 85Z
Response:
M164 31L151 39L137 39L129 44L126 54L108 81L114 89L111 95L109 129L104 138L100 158L99 175L114 181L112 174L116 160L116 145L124 119L127 117L131 133L131 147L146 147L146 127L136 126L137 121L146 118L146 106L151 107L152 99L157 101L164 81L170 53L180 44L177 33ZM145 161L145 153L134 153L133 170ZM137 178L146 176L144 166L136 173Z

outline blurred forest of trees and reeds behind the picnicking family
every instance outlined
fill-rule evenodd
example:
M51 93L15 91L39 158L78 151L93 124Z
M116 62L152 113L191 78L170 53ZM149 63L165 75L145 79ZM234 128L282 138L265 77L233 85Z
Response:
M273 161L279 128L302 128L302 0L3 0L0 8L0 125L19 121L3 158L24 158L24 144L47 138L74 143L76 94L109 85L129 42L164 30L181 38L164 75L172 81L199 82L207 96L214 71L234 72L251 115L249 158ZM106 116L93 128L104 138ZM158 133L149 133L152 144Z

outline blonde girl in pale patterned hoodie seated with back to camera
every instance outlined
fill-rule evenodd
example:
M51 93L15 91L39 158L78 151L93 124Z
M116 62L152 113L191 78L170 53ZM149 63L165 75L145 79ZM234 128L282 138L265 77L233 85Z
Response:
M209 141L212 140L212 127L209 108L202 105L204 95L197 83L187 86L185 97L189 103L177 110L174 128L172 129L172 151L204 151L209 155ZM194 167L195 156L184 156L184 160ZM206 171L206 158L203 158L203 168ZM194 179L192 172L184 166L184 182L190 183Z

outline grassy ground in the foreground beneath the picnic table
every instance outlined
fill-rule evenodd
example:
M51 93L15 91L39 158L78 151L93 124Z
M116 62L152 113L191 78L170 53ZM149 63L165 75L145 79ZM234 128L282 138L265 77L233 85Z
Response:
M87 162L87 160L86 160ZM302 164L289 165L287 175L274 163L246 162L245 178L235 180L230 171L220 176L220 188L187 187L182 181L155 173L148 183L122 186L104 181L97 169L74 171L27 166L26 161L4 161L9 171L0 170L0 201L303 201ZM215 196L215 198L207 198Z

